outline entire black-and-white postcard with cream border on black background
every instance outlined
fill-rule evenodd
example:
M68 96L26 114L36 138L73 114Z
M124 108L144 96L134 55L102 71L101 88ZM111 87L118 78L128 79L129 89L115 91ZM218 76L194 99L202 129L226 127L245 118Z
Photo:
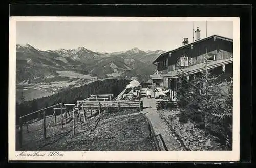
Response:
M239 159L238 31L231 17L12 17L12 156Z

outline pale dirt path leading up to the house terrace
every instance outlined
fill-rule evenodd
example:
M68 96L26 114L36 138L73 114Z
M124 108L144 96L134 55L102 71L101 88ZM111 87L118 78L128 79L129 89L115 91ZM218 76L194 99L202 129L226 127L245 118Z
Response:
M155 134L162 135L168 151L183 150L183 148L177 142L177 138L172 134L167 124L161 119L160 114L157 112L155 98L147 98L145 97L145 93L146 93L146 89L142 89L142 98L141 98L141 100L143 100L142 113L145 114L146 117L150 120ZM152 91L151 91L151 95L154 95ZM162 146L161 144L159 145Z

